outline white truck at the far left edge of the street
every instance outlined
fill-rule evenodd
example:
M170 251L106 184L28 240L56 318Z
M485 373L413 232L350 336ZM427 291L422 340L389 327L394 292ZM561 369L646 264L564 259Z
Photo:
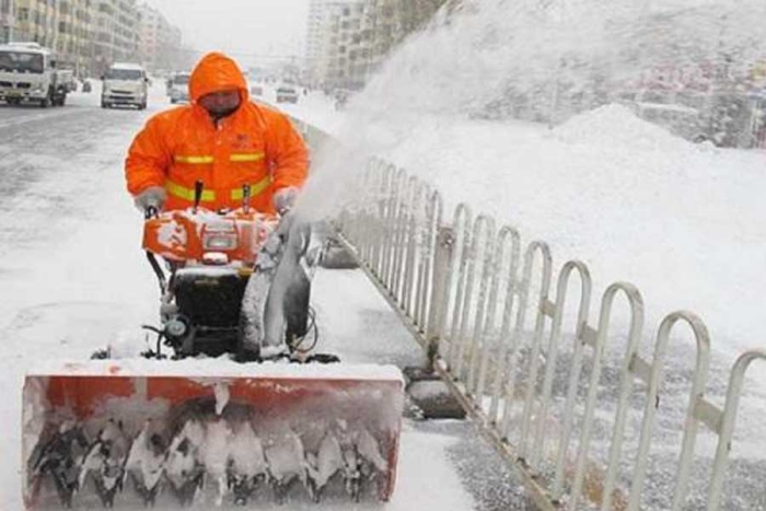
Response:
M63 106L66 80L56 69L56 55L37 43L0 45L0 100L11 105L37 103Z

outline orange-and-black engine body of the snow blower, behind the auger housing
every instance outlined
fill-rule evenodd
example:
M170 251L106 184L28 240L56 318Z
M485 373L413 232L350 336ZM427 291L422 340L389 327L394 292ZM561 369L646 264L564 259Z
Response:
M162 326L146 327L158 335L148 357L163 357L163 345L175 358L243 361L309 351L310 281L322 246L307 225L249 208L154 212L143 247L162 292Z

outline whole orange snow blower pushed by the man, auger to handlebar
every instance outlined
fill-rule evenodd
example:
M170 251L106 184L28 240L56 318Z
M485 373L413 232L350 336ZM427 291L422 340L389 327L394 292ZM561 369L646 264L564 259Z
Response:
M401 371L313 352L307 227L252 210L246 186L235 211L195 191L194 208L147 214L161 325L144 357L26 375L26 508L388 500Z

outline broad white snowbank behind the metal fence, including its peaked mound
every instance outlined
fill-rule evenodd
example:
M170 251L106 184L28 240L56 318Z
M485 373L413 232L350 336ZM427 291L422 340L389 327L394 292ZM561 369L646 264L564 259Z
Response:
M311 121L313 112L300 115ZM336 136L353 140L356 154L418 175L449 208L466 201L514 224L526 242L549 242L557 267L584 260L596 293L614 281L637 284L647 335L665 314L687 309L730 359L764 346L766 227L753 219L766 214L765 153L696 146L618 105L552 130L417 113L345 116ZM316 188L337 188L358 167L358 159L329 158L318 171L328 185Z

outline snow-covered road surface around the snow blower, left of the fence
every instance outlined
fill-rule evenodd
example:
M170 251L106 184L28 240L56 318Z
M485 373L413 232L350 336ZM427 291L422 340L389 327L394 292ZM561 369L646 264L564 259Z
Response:
M123 159L148 115L166 106L161 92L148 113L101 109L97 91L74 94L65 108L0 105L2 509L23 508L24 371L38 359L85 359L154 320L156 284L139 249ZM314 306L323 349L355 362L418 362L415 342L361 272L320 272ZM407 420L397 490L385 508L533 509L521 492L469 423Z

